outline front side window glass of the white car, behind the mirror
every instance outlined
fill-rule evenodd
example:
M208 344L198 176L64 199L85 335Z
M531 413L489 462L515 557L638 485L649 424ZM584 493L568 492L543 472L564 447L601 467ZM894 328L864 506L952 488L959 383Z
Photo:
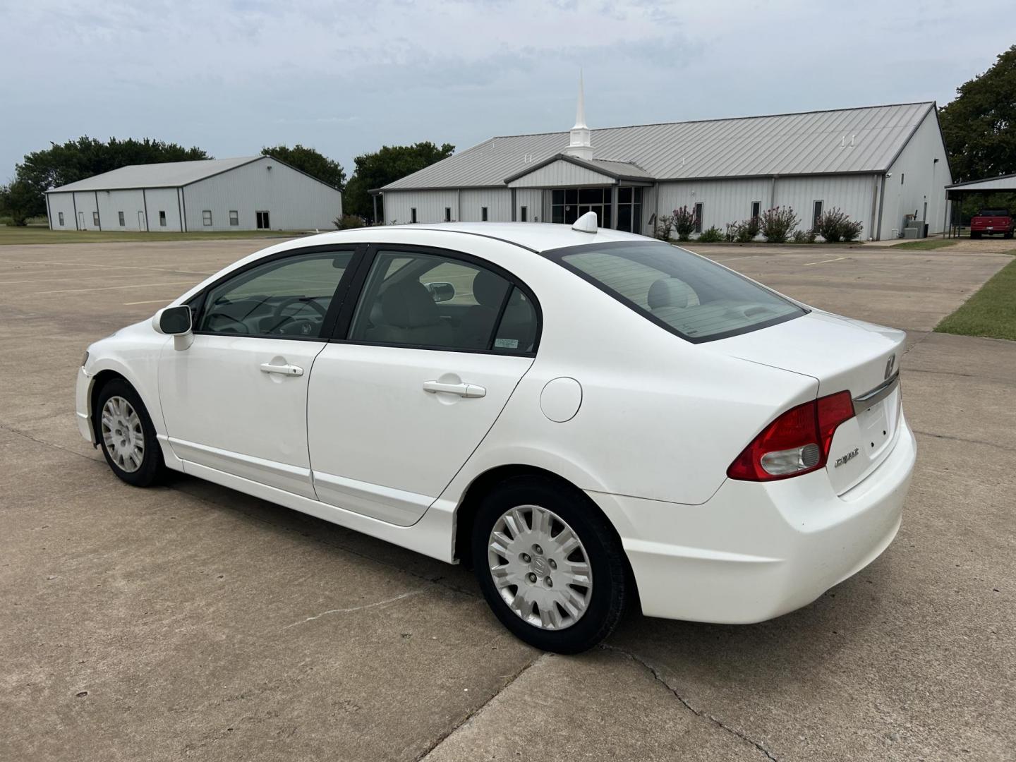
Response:
M200 331L316 338L351 252L318 252L266 262L208 293Z

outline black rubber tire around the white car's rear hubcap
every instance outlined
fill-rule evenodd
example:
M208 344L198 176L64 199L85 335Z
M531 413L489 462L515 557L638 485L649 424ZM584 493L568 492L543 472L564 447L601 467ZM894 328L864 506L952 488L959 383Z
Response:
M577 621L562 629L544 629L516 614L498 591L488 562L488 543L495 523L511 509L527 505L546 508L567 522L588 558L592 584L587 607ZM473 570L488 605L516 637L536 648L556 653L587 650L610 635L624 614L629 596L624 551L599 509L575 489L538 477L513 477L502 482L480 505L471 551ZM556 573L547 572L547 576Z

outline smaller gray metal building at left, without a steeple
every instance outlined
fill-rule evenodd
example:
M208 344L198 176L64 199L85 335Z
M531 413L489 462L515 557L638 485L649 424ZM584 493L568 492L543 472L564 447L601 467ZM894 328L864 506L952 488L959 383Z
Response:
M331 229L342 194L273 156L132 165L46 193L52 230Z

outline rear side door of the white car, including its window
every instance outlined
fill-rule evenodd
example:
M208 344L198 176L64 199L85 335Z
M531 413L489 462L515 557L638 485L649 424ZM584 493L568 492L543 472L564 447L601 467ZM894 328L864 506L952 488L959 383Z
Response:
M357 280L355 309L351 296L311 374L314 487L322 502L406 526L532 364L538 305L511 274L443 250L372 247Z

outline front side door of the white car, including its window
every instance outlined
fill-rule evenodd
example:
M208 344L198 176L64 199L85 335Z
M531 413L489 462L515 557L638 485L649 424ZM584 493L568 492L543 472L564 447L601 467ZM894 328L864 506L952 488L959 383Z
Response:
M307 385L335 322L354 250L298 249L258 260L195 301L194 340L160 357L158 392L174 453L314 498Z

